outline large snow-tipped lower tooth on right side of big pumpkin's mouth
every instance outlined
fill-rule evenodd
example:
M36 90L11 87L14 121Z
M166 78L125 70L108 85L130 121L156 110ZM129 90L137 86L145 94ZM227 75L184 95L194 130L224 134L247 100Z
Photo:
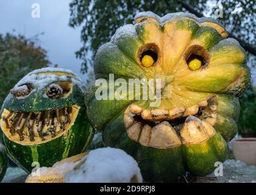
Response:
M183 143L190 144L208 140L214 133L215 129L207 122L195 116L188 116L180 131L180 136L183 138Z

